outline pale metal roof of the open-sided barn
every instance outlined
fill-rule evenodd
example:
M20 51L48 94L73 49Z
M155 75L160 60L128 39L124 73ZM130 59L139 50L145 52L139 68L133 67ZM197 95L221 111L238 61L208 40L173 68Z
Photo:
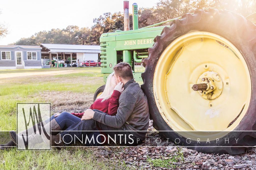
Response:
M99 45L72 45L72 44L41 44L50 52L71 52L71 53L100 53Z

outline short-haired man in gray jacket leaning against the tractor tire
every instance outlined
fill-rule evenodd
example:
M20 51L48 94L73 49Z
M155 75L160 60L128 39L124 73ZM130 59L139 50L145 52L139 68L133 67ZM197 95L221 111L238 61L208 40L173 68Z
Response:
M74 143L73 139L80 137L80 141L88 145L87 136L95 138L99 134L99 129L108 136L104 141L102 141L103 135L101 139L96 137L95 140L100 144L107 143L109 137L115 139L116 143L126 145L137 145L145 139L149 125L147 98L140 85L134 82L132 68L128 63L118 63L113 70L116 82L124 84L117 114L110 116L98 110L87 109L81 122L61 132L60 137L52 135L52 144L61 146ZM90 143L90 145L94 144Z

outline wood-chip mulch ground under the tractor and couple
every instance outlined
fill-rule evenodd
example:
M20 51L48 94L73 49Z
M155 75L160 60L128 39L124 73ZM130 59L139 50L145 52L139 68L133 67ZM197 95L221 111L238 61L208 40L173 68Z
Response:
M83 112L87 108L54 110L54 113ZM131 169L256 169L256 149L231 156L229 154L204 154L162 139L152 126L148 128L150 141L160 138L162 142L150 145L142 143L137 147L90 147L99 159L117 159L125 162ZM152 139L152 140L151 140ZM175 159L174 159L175 158Z

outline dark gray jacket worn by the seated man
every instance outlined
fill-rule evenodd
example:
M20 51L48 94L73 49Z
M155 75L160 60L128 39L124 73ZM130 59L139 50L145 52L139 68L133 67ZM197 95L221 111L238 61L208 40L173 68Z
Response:
M148 102L140 85L134 79L124 85L124 91L119 97L119 107L115 116L106 115L95 111L93 120L114 128L131 130L131 134L143 140L145 139L149 112ZM135 131L136 130L136 131ZM138 132L143 130L144 132Z

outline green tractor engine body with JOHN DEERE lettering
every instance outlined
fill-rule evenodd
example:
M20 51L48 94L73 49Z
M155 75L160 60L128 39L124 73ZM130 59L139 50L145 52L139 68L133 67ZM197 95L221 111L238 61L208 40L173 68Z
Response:
M134 63L141 63L148 57L147 49L154 44L154 38L160 35L163 28L153 27L130 31L104 33L100 37L101 73L104 81L113 72L113 66L120 61L128 62L133 67L134 78L142 81L141 72L136 73Z

